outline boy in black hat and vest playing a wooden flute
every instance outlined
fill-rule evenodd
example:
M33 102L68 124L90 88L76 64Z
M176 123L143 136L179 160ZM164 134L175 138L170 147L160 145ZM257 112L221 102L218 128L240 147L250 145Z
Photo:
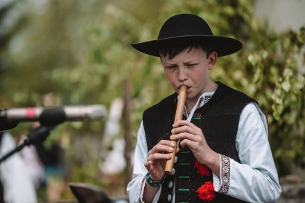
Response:
M253 98L209 78L217 58L239 51L241 42L214 36L200 17L180 14L164 23L156 40L132 46L160 57L176 93L143 113L130 202L275 202L281 187L265 115ZM182 85L185 120L173 124ZM166 175L171 140L178 148Z

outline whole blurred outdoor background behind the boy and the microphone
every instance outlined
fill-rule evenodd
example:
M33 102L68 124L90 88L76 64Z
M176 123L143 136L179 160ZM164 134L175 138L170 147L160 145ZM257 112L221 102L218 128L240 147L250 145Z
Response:
M38 202L73 200L69 182L126 196L142 112L173 93L159 59L130 43L155 39L182 12L243 42L211 77L259 101L282 186L303 186L304 8L301 0L0 0L0 107L107 107L103 121L63 123L21 151ZM19 143L33 127L10 134Z

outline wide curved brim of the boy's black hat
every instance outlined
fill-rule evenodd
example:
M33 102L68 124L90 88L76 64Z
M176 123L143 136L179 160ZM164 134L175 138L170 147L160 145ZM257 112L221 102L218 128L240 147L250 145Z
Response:
M243 44L237 39L230 37L219 37L211 35L187 35L182 37L171 37L165 39L156 39L148 42L131 44L135 49L148 55L159 56L159 49L166 44L196 42L198 44L210 44L218 57L235 53L243 47Z

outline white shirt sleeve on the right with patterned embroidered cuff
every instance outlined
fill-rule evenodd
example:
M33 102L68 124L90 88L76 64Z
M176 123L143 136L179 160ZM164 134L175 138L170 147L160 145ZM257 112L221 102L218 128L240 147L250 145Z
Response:
M220 177L213 174L215 190L247 202L275 202L281 186L268 141L267 120L255 103L246 105L241 113L236 149L241 164L220 155Z

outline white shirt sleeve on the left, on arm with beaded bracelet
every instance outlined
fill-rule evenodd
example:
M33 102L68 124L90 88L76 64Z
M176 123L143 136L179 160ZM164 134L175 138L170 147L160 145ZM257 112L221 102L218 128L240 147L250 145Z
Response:
M147 173L144 163L146 163L147 156L148 148L142 121L137 134L137 145L134 150L134 168L132 172L132 180L127 186L127 193L130 202L143 202L143 191L146 183L145 175ZM159 200L161 188L162 186L159 187L159 190L153 199L153 203Z

